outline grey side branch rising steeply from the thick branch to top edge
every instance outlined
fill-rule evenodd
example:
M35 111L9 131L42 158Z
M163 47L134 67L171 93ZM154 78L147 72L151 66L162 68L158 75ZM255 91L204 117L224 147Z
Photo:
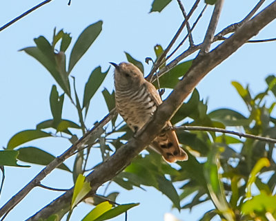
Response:
M224 4L224 0L217 0L217 3L215 3L215 8L213 10L212 18L208 25L208 29L204 37L202 48L199 51L199 55L206 54L210 50L210 46L215 36L215 30L217 28L217 23L219 22L219 16L221 14L221 9L223 4Z

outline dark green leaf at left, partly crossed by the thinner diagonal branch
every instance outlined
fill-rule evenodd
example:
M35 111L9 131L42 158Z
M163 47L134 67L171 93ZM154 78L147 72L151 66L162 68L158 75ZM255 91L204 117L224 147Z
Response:
M19 155L17 158L23 162L30 162L37 165L48 165L52 160L55 160L55 156L52 156L52 154L37 147L21 147L18 151ZM57 168L70 172L70 169L63 163Z

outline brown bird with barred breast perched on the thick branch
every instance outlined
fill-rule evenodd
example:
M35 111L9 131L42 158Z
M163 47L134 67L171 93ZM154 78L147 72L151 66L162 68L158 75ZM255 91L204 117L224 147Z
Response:
M152 116L162 100L152 83L146 81L138 67L122 62L115 67L115 104L117 112L126 121L130 129L137 133ZM170 121L164 128L171 127ZM161 154L167 162L188 160L188 154L179 147L175 131L163 129L152 141L150 147Z

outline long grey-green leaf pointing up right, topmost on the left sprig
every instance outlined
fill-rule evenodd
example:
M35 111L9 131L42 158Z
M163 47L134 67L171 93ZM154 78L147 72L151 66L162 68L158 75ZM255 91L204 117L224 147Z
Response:
M90 45L97 39L99 33L101 32L101 26L103 25L102 21L98 21L89 25L83 32L79 35L72 52L70 54L70 62L68 73L70 73L76 63L81 59L81 56L86 53Z

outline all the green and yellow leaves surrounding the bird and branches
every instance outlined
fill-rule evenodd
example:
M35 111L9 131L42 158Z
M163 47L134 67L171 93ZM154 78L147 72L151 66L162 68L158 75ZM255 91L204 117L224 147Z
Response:
M170 0L155 0L151 12L161 12ZM206 1L213 4L215 1ZM28 142L38 138L63 137L75 143L87 131L86 116L90 109L91 99L102 88L104 79L109 72L102 72L101 67L92 70L86 85L83 87L83 98L80 99L75 87L75 79L70 76L72 69L86 53L90 45L101 32L102 21L89 25L79 35L72 45L72 51L66 65L67 50L71 45L70 34L54 30L52 43L44 36L34 39L34 47L23 48L34 59L39 61L57 85L52 85L50 92L50 110L52 118L43 120L35 129L20 131L10 138L6 149L0 151L0 165L22 167L17 160L37 165L48 165L55 156L39 147L26 146ZM59 45L59 49L57 47ZM163 49L156 45L156 59ZM135 63L144 72L141 61L134 59L126 52L126 59ZM193 60L179 63L168 73L159 78L160 87L171 90L179 78L184 76ZM276 119L271 116L275 102L268 103L271 96L275 100L276 77L266 78L267 88L264 92L253 95L249 86L243 87L238 82L232 85L241 96L248 112L246 116L233 109L215 109L208 112L208 105L200 99L195 89L190 99L181 105L172 123L177 125L200 125L208 127L239 127L248 134L276 138ZM155 86L158 86L155 83ZM108 110L115 108L115 93L103 89L101 91ZM72 102L79 122L64 119L63 103L65 99ZM270 98L271 100L271 98ZM111 129L110 129L111 128ZM78 131L75 133L75 131ZM79 134L78 134L79 133ZM118 135L119 134L119 135ZM146 189L154 187L172 202L172 207L179 211L192 209L202 202L211 202L215 209L206 213L201 220L211 220L216 215L222 220L268 220L268 216L276 215L275 189L275 158L274 145L259 140L239 139L228 134L218 134L206 131L177 131L181 146L188 152L189 160L169 165L159 154L148 149L148 154L137 156L132 163L121 171L113 180L126 190L133 187ZM90 143L83 147L76 156L73 170L61 164L58 168L68 171L75 180L75 189L70 204L70 214L77 204L83 201L90 192L90 184L85 180L85 173L92 171L87 168L90 149L98 149L102 160L108 159L114 151L132 136L126 125L121 125L113 118L109 127L101 129ZM95 162L95 166L97 162ZM28 166L27 166L28 167ZM3 170L2 170L3 171ZM268 173L269 172L269 173ZM266 179L264 179L266 176ZM254 187L254 188L253 188ZM118 193L103 196L103 202L94 200L94 208L83 217L86 220L108 220L136 207L137 203L110 204L116 200ZM188 200L193 195L193 200ZM52 214L47 220L60 220L57 214Z

